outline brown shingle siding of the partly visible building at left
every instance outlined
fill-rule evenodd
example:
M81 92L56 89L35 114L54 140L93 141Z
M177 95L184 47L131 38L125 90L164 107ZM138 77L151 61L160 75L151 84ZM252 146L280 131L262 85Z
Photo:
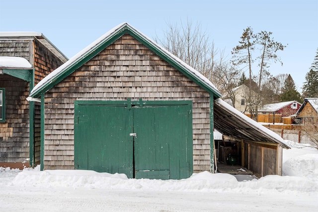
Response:
M23 57L28 60L34 67L35 85L63 64L62 59L34 36L1 36L0 56ZM64 59L66 60L67 58ZM29 102L26 100L29 95L29 82L2 74L0 88L5 88L6 116L6 122L0 123L0 166L22 168L21 163L28 166L30 158ZM34 164L36 165L40 163L40 104L38 103L35 103L34 122ZM16 167L12 167L15 164Z

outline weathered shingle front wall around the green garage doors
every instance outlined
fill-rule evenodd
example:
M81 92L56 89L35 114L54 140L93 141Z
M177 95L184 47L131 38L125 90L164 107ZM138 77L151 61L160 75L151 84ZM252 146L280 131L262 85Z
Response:
M74 101L193 102L194 172L210 170L208 92L125 34L45 95L44 169L74 169Z

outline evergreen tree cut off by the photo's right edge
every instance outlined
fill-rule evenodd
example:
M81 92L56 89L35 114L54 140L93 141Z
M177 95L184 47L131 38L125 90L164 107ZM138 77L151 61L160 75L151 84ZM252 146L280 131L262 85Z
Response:
M310 71L306 74L303 86L304 97L318 98L318 49Z

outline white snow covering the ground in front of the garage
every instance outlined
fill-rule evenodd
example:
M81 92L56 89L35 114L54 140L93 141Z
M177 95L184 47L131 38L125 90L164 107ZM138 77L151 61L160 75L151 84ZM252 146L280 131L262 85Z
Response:
M83 170L0 168L0 211L318 211L318 150L288 143L284 176L258 180L209 172L183 180L137 180Z

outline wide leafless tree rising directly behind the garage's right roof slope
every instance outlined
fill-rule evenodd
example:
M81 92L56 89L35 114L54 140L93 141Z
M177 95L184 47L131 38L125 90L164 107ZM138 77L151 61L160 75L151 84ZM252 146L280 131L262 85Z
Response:
M207 77L221 93L230 93L236 87L240 71L225 59L224 50L215 48L200 24L187 20L167 25L163 38L157 36L156 42Z

